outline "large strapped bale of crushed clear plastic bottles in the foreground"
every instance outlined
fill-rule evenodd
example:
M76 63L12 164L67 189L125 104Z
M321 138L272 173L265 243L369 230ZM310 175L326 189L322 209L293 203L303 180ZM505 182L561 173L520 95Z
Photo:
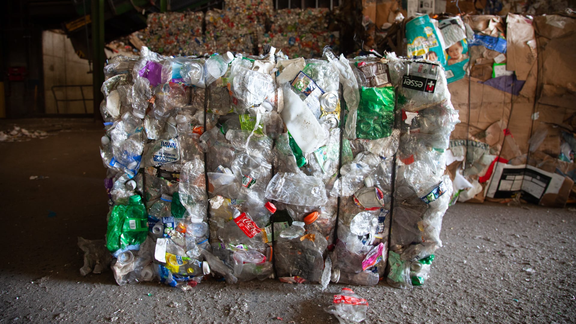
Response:
M104 71L105 248L118 284L426 280L458 122L441 66L328 47L322 59L143 47ZM82 273L100 272L102 242L81 243Z

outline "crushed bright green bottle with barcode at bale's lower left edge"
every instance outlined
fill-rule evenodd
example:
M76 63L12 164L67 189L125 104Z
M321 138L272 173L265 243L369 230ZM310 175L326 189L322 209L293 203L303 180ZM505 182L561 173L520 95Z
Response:
M106 247L115 252L129 245L141 244L148 235L146 208L139 195L132 195L128 205L116 205L108 220Z

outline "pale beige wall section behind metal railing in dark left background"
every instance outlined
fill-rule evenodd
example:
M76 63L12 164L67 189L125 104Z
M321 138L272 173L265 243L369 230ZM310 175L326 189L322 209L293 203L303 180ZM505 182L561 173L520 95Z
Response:
M56 114L56 101L52 86L58 85L92 85L92 73L87 59L81 59L74 52L74 47L66 35L54 31L43 31L42 52L44 61L44 100L46 114ZM86 99L86 111L82 101L58 101L60 114L84 114L93 112L92 86L82 87ZM57 99L82 99L78 86L56 88Z

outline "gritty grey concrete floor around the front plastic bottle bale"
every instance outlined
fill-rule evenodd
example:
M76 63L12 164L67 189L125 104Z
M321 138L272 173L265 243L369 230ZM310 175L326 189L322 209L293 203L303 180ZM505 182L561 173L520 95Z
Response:
M182 292L157 283L119 287L109 271L82 277L77 236L106 231L101 124L18 122L52 135L0 143L0 323L337 322L323 309L341 285L209 281ZM424 287L353 288L369 301L365 323L573 322L575 235L573 208L457 204L444 217L444 247Z

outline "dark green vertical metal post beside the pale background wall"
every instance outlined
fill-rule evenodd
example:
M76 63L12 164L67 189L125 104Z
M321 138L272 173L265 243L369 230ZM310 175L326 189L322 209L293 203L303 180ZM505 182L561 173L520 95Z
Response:
M94 119L102 119L100 102L104 99L100 87L104 82L104 0L92 0L92 89Z

